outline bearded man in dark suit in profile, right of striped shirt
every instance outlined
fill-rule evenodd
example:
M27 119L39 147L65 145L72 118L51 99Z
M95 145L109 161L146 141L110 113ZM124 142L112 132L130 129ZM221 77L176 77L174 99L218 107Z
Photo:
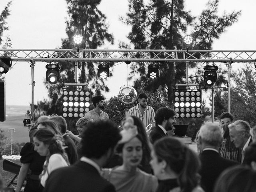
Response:
M155 121L156 126L152 128L149 134L152 144L162 137L168 136L167 131L170 131L170 136L174 135L175 111L168 107L161 107L156 111Z

